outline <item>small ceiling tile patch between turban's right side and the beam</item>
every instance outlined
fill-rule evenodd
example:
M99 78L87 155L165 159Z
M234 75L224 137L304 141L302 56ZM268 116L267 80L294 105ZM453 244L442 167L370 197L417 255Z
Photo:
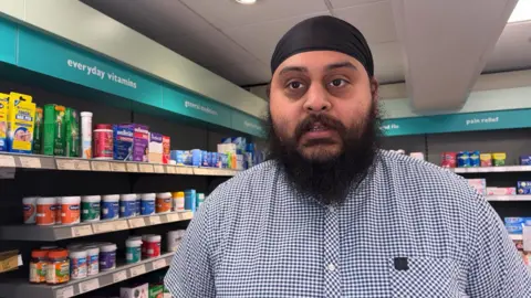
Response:
M405 81L405 63L398 42L371 44L374 58L374 74L381 84Z

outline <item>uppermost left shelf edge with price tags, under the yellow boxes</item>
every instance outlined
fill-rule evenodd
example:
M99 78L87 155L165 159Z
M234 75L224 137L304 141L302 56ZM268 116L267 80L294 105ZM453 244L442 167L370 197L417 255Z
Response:
M88 160L35 155L0 153L0 169L42 169L61 171L94 171L94 172L129 172L160 173L188 175L223 175L232 177L239 171L217 168L195 168L174 164L146 162L125 162L107 160Z

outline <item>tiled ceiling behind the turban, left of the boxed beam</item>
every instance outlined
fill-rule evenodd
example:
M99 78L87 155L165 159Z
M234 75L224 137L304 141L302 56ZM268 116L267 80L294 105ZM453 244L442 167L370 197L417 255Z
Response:
M388 0L259 0L254 6L233 0L82 1L240 86L269 82L272 52L291 26L334 14L365 34L382 83L404 81Z

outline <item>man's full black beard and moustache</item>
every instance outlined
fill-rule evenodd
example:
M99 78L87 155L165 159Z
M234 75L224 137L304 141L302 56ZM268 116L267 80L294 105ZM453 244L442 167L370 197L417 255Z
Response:
M301 153L300 136L314 121L324 123L337 131L342 141L339 153L329 155L324 151L321 157L305 157ZM268 123L269 159L279 162L299 192L325 205L345 201L348 191L367 175L379 147L381 120L374 102L366 118L348 129L330 116L309 116L299 125L293 138L282 140L275 132L271 115Z

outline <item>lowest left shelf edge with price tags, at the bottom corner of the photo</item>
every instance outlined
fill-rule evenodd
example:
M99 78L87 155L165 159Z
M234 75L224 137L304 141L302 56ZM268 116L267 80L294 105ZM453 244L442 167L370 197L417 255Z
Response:
M157 258L140 260L136 264L124 265L116 269L103 272L95 276L72 280L64 285L48 286L32 285L27 279L0 281L2 297L39 297L39 298L69 298L93 291L129 278L144 275L160 268L168 267L175 253L167 253Z

